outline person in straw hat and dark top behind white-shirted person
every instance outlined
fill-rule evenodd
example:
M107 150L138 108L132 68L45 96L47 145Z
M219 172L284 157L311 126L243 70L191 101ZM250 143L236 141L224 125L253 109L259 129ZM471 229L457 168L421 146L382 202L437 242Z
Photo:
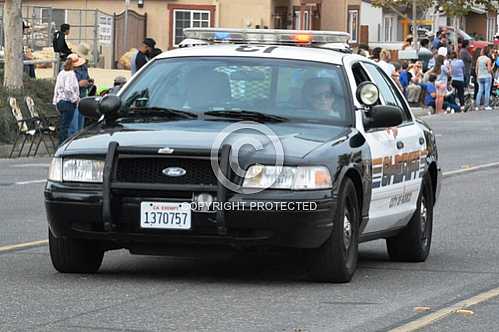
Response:
M76 54L78 55L80 61L78 62L78 65L75 65L75 74L80 87L80 98L84 98L88 95L88 87L90 85L90 76L88 74L87 66L90 47L86 43L81 43L76 50ZM78 109L76 109L73 121L71 121L71 125L69 126L70 135L80 131L84 126L85 117L78 111Z

